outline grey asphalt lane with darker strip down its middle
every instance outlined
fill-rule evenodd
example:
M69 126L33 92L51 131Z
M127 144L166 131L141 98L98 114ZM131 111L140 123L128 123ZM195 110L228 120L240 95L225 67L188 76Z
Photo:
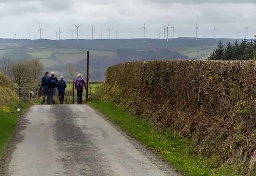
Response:
M178 176L86 105L38 105L21 118L1 176Z

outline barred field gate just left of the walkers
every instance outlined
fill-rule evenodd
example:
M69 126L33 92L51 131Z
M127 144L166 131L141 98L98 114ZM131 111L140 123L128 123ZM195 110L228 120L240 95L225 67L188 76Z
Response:
M16 87L15 91L20 99L38 100L37 87Z

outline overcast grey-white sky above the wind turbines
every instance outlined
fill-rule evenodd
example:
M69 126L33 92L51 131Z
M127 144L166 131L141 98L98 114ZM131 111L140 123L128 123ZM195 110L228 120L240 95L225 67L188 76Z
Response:
M55 39L61 30L62 39L72 38L74 23L80 25L78 38L116 37L142 38L144 22L146 38L164 37L162 26L175 25L174 37L248 38L256 32L256 0L0 0L0 38L39 37ZM172 37L172 29L169 29ZM59 34L58 34L59 35ZM74 33L75 36L75 33Z

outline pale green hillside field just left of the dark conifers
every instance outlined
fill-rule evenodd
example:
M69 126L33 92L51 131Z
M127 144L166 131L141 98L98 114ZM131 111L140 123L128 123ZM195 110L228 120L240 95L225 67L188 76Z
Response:
M187 50L181 50L179 53L186 55L191 59L196 58L198 60L205 60L212 54L215 48L217 48L217 46L192 47Z

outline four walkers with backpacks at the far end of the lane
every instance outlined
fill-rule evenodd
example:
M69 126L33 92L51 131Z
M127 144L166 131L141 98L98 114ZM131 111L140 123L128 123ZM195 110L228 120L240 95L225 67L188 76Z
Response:
M64 81L64 76L60 76L60 80L55 77L55 73L52 72L51 76L48 72L45 72L44 77L41 80L40 90L43 92L42 102L43 105L45 103L47 105L55 104L55 97L58 90L60 104L62 105L64 102L65 91L67 88L67 82ZM86 84L81 74L77 75L75 82L76 92L77 92L77 104L83 103L83 90L86 90Z

